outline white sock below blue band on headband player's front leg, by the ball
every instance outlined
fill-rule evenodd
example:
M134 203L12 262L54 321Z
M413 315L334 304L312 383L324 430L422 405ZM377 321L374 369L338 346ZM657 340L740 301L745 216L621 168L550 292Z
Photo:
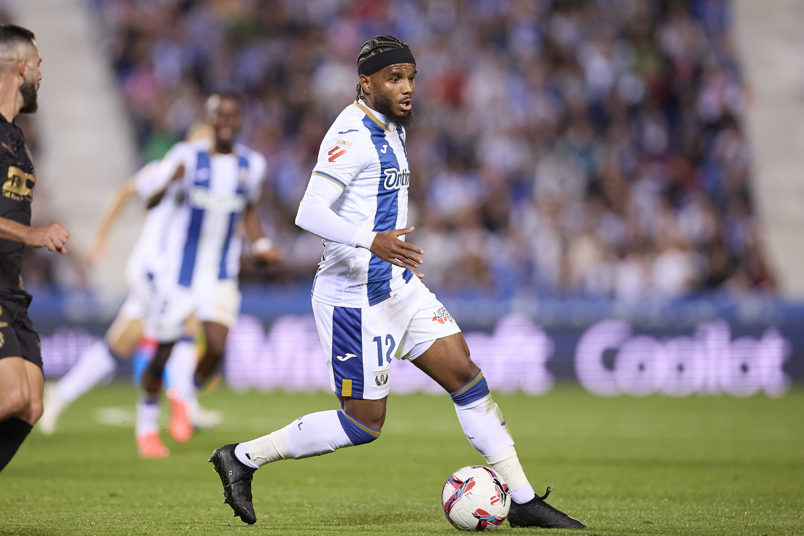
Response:
M455 404L457 419L466 438L486 459L511 491L511 498L520 505L535 497L516 456L514 438L508 430L500 408L486 395L465 406Z

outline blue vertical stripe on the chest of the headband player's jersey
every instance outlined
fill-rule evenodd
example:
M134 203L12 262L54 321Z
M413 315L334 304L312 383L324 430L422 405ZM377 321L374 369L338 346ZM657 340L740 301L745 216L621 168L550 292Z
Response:
M374 216L374 231L391 231L396 227L396 217L399 214L399 190L385 188L385 171L399 171L399 161L396 159L394 149L385 139L385 131L371 120L363 117L363 125L371 132L371 141L377 149L379 157L379 184L377 185L377 212ZM393 265L378 256L371 254L368 261L367 295L368 305L376 305L391 297L391 278Z

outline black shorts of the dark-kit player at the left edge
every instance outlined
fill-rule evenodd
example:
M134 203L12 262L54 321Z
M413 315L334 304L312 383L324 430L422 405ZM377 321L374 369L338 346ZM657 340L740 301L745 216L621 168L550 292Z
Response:
M42 368L42 344L28 317L31 294L0 294L0 359L23 358Z

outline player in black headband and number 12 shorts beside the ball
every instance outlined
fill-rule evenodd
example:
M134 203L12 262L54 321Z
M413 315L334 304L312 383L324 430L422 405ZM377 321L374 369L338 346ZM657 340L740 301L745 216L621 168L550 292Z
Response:
M385 420L393 358L408 359L453 399L461 427L511 489L511 526L585 528L536 497L514 440L470 360L461 330L421 283L423 253L404 235L416 61L388 35L363 44L358 98L324 137L296 223L324 239L313 311L339 410L303 415L267 436L213 452L225 501L256 522L252 475L261 465L370 443ZM548 490L549 493L549 490Z

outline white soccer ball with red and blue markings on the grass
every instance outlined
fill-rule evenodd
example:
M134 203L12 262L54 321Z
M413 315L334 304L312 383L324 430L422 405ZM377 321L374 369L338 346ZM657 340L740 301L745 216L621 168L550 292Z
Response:
M457 530L494 530L505 521L511 496L494 469L470 465L447 479L441 507Z

